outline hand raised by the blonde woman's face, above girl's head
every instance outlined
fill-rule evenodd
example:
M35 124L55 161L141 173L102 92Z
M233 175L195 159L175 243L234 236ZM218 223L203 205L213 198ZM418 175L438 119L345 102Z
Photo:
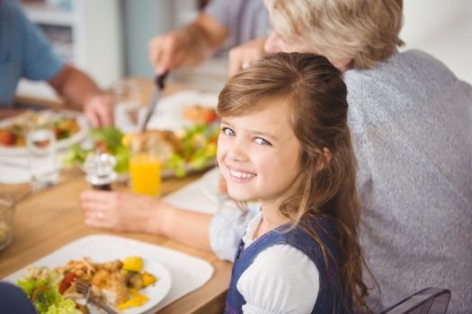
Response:
M228 75L231 77L238 74L257 59L265 56L263 45L265 38L254 39L229 50Z

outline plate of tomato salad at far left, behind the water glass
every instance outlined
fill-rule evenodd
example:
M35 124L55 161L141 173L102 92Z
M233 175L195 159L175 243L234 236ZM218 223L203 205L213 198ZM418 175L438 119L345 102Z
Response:
M88 132L85 117L70 110L25 111L13 118L0 121L0 154L22 156L27 154L25 137L28 127L49 122L54 130L58 150L82 141Z

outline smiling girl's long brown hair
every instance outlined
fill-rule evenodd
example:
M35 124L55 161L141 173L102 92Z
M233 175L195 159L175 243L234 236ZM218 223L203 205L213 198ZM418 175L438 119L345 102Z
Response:
M344 309L350 294L355 304L367 308L367 287L361 275L364 260L358 240L361 205L346 95L343 73L325 57L278 53L232 77L219 94L218 113L222 117L242 116L270 107L272 100L285 100L301 148L297 187L280 200L281 214L319 243L325 266L328 259L336 263L345 292ZM315 216L324 216L334 224L338 260L310 227L309 221Z

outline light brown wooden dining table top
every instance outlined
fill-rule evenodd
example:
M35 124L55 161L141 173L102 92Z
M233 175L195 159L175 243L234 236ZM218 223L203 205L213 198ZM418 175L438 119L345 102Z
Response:
M200 174L183 179L165 179L161 195L199 179ZM94 229L85 225L85 212L79 195L91 188L78 167L63 169L57 185L30 193L29 184L0 184L4 195L13 196L15 205L14 236L12 243L0 251L0 278L28 266L71 241L97 233L107 233L134 240L141 240L168 249L174 249L193 257L200 257L214 267L214 273L199 289L167 305L159 313L221 313L224 309L232 264L219 260L213 253L194 249L177 241L146 233L119 232ZM116 189L129 189L126 185L114 185Z

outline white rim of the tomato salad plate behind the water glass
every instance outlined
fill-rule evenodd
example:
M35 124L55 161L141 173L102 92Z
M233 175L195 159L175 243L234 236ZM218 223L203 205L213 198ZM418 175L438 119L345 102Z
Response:
M69 136L63 140L58 141L58 144L56 145L58 150L65 149L68 146L76 144L85 138L88 132L88 126L84 115L76 111L70 110L61 110L57 112L55 111L54 115L75 117L77 124L80 126L80 130L75 135ZM11 118L6 118L0 121L0 127L8 125L10 123L10 120ZM27 154L28 151L26 147L7 147L0 145L0 155L2 156L25 156Z

